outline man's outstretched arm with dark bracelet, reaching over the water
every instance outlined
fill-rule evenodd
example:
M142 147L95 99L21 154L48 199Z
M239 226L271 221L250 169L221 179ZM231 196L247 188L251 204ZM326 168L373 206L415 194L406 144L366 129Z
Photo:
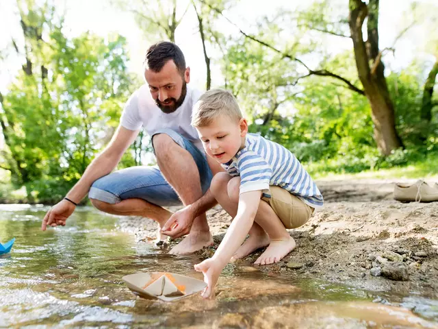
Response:
M87 195L93 182L107 175L117 166L126 149L136 139L138 132L139 130L128 130L119 125L110 143L88 165L79 182L73 186L66 197L79 204L83 197ZM64 226L73 211L75 211L75 205L66 199L62 199L44 216L41 229L44 231L47 226Z

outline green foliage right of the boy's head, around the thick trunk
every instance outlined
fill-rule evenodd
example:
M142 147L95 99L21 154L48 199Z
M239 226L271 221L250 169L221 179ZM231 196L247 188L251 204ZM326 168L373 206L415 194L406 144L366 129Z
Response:
M384 157L376 148L370 105L365 97L329 77L306 77L296 84L298 67L285 67L284 62L261 45L240 40L229 48L224 73L250 121L250 132L284 145L312 171L357 173L387 169L415 162L437 149L437 138L422 139L424 70L415 63L388 77L397 129L407 149L396 149ZM350 81L357 74L350 52L324 60L324 67ZM430 123L430 127L433 125Z

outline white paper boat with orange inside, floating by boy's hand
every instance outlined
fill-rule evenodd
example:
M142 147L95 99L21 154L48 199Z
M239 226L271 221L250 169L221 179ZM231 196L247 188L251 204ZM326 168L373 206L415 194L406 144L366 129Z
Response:
M135 273L124 276L122 280L133 293L166 302L180 300L207 287L202 280L168 272Z

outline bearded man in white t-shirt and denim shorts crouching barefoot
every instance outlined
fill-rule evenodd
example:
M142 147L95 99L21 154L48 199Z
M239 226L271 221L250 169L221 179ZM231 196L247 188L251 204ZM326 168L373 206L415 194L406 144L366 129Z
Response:
M213 243L205 211L216 204L209 192L212 172L222 169L205 155L190 125L192 106L201 93L187 86L190 68L185 66L181 49L172 42L149 47L144 78L146 84L127 101L109 145L66 197L47 212L42 230L65 226L76 204L88 193L99 210L149 217L173 238L188 234L171 254L190 254ZM142 125L152 138L158 168L131 167L111 173ZM162 208L181 201L185 208L175 214Z

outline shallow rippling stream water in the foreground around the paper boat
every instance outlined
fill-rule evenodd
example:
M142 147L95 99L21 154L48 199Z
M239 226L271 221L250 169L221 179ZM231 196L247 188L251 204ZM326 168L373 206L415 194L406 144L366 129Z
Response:
M41 232L46 211L0 205L0 241L16 237L10 257L0 258L0 327L437 328L438 301L291 280L248 265L227 267L215 300L143 300L123 276L172 271L202 278L193 270L199 259L137 244L116 229L117 217L92 208L80 208L66 228Z

